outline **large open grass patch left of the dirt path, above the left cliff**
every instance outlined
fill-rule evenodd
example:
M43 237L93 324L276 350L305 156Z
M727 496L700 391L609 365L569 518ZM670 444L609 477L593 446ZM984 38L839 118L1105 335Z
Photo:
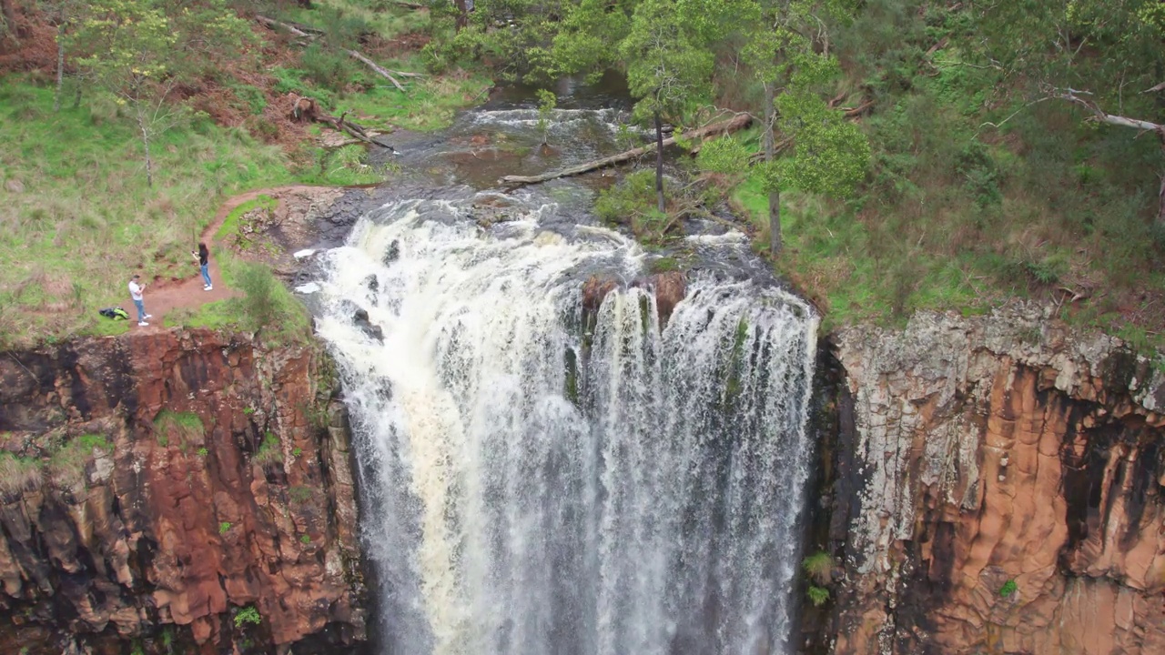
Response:
M278 148L196 118L154 143L149 188L120 112L94 97L54 113L51 90L0 86L0 344L123 332L97 310L132 307L132 273L185 275L224 196L296 179Z

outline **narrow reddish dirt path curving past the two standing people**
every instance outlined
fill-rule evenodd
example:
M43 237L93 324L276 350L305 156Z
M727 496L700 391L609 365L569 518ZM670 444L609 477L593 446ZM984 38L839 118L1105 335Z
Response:
M204 230L199 237L199 241L206 244L206 247L211 251L210 274L211 281L214 283L214 288L210 291L203 290L203 276L198 270L198 262L193 258L190 258L190 277L179 281L163 280L156 284L150 283L146 287L146 312L150 315L150 318L147 321L149 323L149 328L137 328L137 310L134 308L133 302L128 305L123 305L129 311L133 329L163 330L165 316L176 309L197 309L210 302L239 296L239 291L228 288L223 281L217 256L223 245L214 239L214 234L219 231L219 227L223 226L227 214L230 214L239 205L254 200L259 196L266 195L278 198L285 193L310 189L319 189L319 186L295 184L291 186L256 189L254 191L247 191L246 193L240 193L228 198L221 206L219 206L218 212L214 214L214 220L206 226L206 230Z

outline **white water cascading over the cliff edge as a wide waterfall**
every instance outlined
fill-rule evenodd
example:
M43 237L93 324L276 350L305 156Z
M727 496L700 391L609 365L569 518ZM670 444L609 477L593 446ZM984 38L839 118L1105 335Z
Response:
M584 311L638 246L457 213L374 212L320 283L388 652L789 650L814 312L711 279Z

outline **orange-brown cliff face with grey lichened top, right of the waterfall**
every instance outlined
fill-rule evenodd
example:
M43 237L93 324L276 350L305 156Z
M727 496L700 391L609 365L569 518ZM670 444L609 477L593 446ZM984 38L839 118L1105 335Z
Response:
M834 653L1165 653L1152 362L1024 308L836 354Z

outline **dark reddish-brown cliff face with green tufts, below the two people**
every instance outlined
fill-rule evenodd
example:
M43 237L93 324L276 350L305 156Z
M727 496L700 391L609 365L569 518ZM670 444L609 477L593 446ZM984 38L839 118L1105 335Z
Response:
M200 330L3 353L0 652L361 642L327 366Z

